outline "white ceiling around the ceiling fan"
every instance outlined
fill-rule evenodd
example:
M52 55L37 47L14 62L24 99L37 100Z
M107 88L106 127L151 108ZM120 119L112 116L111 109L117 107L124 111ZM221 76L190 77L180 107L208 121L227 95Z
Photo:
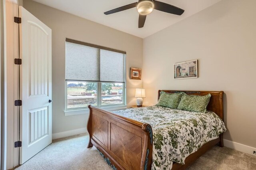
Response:
M137 8L115 14L105 15L103 12L131 4L136 0L34 0L41 4L80 16L82 18L109 26L116 30L146 38L180 20L220 2L221 0L158 0L178 6L185 10L182 16L153 10L146 18L144 28L138 28Z

